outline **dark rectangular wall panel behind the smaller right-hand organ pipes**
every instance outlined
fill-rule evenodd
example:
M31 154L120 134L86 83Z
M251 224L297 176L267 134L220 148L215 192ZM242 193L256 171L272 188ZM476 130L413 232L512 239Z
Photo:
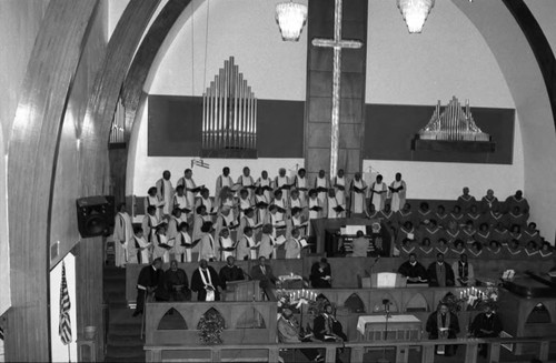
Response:
M365 159L512 164L515 110L471 108L477 125L493 138L496 150L485 152L411 150L415 134L430 120L434 107L367 104Z

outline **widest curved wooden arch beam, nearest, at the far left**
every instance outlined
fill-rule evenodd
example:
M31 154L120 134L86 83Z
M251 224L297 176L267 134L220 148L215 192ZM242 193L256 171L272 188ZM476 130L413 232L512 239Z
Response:
M8 160L12 309L7 361L49 360L48 248L56 157L68 90L97 4L50 1L21 88Z

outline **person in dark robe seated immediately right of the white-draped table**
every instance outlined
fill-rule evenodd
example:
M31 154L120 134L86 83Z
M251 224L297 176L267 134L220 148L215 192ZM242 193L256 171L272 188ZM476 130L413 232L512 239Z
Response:
M456 339L459 333L459 321L457 315L449 311L448 305L440 302L436 312L427 319L426 331L428 339ZM445 352L449 356L455 354L456 345L447 345L444 350L437 345L437 352Z

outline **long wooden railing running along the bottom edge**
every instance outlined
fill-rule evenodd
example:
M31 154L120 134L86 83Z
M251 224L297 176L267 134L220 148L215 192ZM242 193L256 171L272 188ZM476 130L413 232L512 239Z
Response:
M461 345L465 346L465 363L477 362L477 353L479 344L489 345L489 363L500 362L500 347L503 344L517 344L527 343L538 345L538 353L536 356L540 361L548 360L548 350L550 342L556 342L556 336L543 336L543 337L519 337L519 339L457 339L457 340L421 340L421 341L386 341L386 342L357 342L357 343L346 343L345 345L340 343L272 343L272 344L222 344L222 345L196 345L196 346L183 346L183 345L146 345L147 351L147 362L227 362L232 361L229 354L226 355L224 352L227 351L258 351L266 352L257 356L252 356L252 361L257 362L278 362L279 352L281 350L298 350L298 349L318 349L326 353L325 362L334 363L336 362L336 352L339 347L350 349L350 362L363 362L364 353L367 349L394 349L396 350L396 363L407 363L409 362L409 349L420 347L421 351L421 362L434 362L435 360L435 345L446 344L446 345ZM188 351L188 352L203 352L203 355L197 355L192 359L179 357L179 359L162 359L163 352L171 351ZM242 360L244 361L244 360Z

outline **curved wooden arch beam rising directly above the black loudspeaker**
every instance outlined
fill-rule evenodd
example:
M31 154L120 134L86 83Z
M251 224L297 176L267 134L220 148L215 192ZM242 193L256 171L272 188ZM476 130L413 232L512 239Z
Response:
M95 81L81 134L82 195L109 192L108 139L116 103L141 36L160 0L130 1L107 47Z

